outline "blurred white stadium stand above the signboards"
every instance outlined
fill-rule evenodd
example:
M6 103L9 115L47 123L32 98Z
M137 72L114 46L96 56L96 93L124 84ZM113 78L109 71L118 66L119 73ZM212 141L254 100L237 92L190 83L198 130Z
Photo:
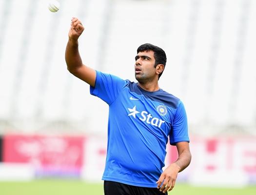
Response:
M146 4L145 4L146 2ZM256 2L252 0L0 0L0 133L106 133L107 105L66 70L71 17L92 68L134 80L137 47L167 54L160 78L181 98L192 134L256 135ZM102 124L102 125L96 125Z

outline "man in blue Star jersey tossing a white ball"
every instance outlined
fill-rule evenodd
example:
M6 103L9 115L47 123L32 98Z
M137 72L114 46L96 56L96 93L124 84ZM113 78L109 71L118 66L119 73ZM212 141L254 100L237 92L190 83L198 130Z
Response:
M158 86L166 55L143 44L135 57L138 83L84 65L78 39L84 27L73 18L66 46L68 70L90 85L90 93L109 105L105 195L167 195L178 172L190 161L187 117L183 103ZM120 64L119 64L120 65ZM178 159L162 172L166 144L177 146Z

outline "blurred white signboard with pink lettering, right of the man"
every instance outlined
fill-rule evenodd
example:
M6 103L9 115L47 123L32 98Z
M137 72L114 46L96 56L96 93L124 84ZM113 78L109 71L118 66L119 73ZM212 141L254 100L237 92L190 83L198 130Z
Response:
M243 187L256 183L256 139L254 137L193 137L192 161L178 179L198 186ZM177 159L170 146L167 165Z

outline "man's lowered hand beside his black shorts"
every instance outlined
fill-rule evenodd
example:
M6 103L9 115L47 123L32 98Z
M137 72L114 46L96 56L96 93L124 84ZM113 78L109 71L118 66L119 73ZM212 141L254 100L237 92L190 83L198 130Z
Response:
M157 184L160 192L166 193L174 188L179 168L175 163L168 166L159 177ZM162 185L161 185L162 184Z

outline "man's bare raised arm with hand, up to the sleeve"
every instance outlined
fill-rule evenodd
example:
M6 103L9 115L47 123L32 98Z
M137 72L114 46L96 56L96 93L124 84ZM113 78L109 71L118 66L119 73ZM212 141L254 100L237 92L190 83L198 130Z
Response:
M82 79L89 85L95 85L96 71L82 63L82 59L78 49L78 39L82 34L84 27L80 20L73 18L71 27L68 33L68 43L66 46L65 60L67 69L70 73L75 75L77 78Z

